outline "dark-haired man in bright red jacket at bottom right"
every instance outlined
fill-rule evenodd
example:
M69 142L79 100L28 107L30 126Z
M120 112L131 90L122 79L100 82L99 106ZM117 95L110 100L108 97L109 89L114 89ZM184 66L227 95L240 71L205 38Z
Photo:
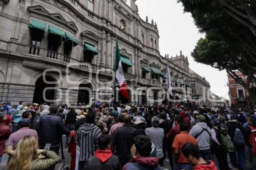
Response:
M200 150L195 144L186 143L181 151L188 162L194 166L194 170L217 170L214 162L202 158Z

